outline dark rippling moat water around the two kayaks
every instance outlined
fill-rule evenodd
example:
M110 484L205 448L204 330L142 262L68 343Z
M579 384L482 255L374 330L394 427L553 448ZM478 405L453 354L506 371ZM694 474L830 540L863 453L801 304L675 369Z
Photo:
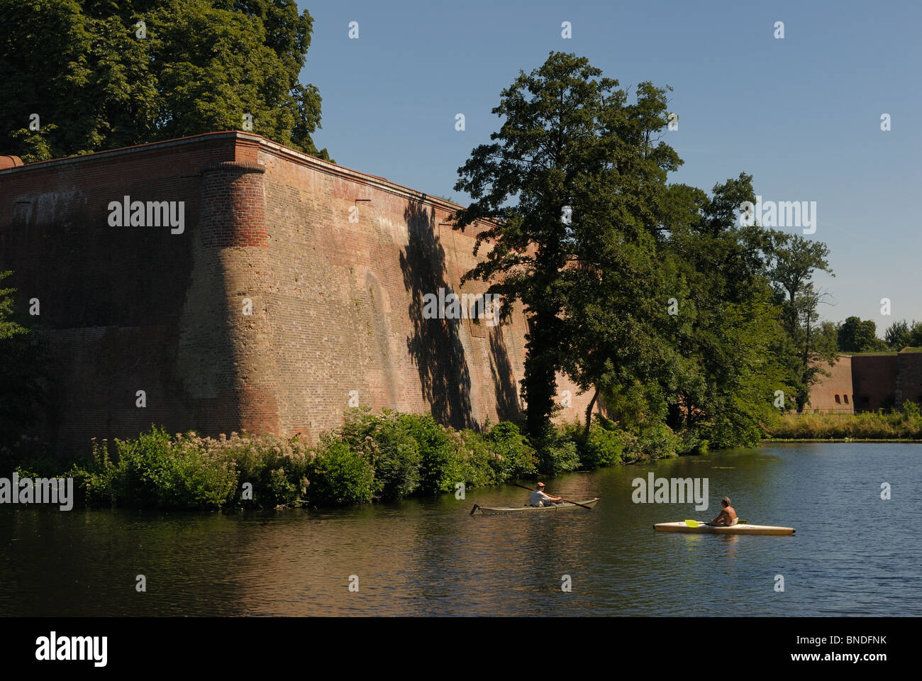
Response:
M523 504L526 491L512 486L322 511L4 506L0 611L917 616L920 463L913 444L766 445L565 475L549 491L601 496L595 510L517 516L468 515L475 503ZM707 478L709 508L633 503L632 480L649 472ZM654 532L656 522L713 518L724 495L740 518L797 533Z

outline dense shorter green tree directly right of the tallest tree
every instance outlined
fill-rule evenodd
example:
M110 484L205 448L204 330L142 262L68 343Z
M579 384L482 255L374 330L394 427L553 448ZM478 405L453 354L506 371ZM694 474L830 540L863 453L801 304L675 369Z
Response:
M782 334L767 276L771 235L739 221L739 205L754 198L746 173L715 185L711 196L671 185L662 218L665 257L680 270L672 317L680 400L670 405L668 424L715 447L756 441L775 390L788 391L776 361Z

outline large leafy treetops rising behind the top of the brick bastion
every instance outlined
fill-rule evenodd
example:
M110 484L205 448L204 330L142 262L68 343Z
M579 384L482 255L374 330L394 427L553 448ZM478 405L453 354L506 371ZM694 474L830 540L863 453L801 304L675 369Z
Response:
M25 161L215 130L318 151L294 0L0 0L0 149ZM146 35L138 37L138 22ZM39 129L32 129L38 114Z

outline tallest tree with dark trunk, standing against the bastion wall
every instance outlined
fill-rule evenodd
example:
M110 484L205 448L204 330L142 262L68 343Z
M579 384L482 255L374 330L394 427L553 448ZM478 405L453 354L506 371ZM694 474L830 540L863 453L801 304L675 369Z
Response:
M618 364L610 352L575 359L574 340L591 335L579 325L586 313L602 313L599 293L619 291L632 263L649 260L651 199L660 176L680 162L655 139L666 124L663 92L642 83L629 103L618 81L602 78L585 58L551 53L502 90L493 109L502 127L458 169L455 190L473 202L457 212L455 229L494 221L479 233L475 253L488 241L491 250L462 281L491 281L506 313L516 299L527 308L522 392L529 433L550 421L559 370L588 388Z

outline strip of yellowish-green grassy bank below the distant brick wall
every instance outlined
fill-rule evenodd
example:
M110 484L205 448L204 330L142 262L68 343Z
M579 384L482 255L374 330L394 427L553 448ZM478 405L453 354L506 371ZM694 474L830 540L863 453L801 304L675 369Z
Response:
M922 439L922 414L914 402L902 410L856 414L785 414L766 426L772 440L919 440Z

